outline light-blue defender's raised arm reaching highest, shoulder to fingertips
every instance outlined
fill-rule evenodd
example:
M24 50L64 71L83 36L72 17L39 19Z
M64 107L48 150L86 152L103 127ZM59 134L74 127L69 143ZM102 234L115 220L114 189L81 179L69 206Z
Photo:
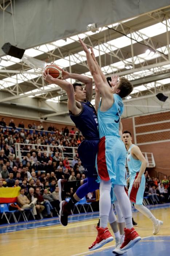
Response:
M96 87L99 89L102 96L107 96L107 97L112 98L111 88L107 82L103 82L103 79L102 79L102 76L100 75L99 69L98 69L94 59L92 58L86 44L84 44L84 42L80 38L79 38L79 41L82 44L84 52L86 53L88 68L91 72L91 75L94 78Z

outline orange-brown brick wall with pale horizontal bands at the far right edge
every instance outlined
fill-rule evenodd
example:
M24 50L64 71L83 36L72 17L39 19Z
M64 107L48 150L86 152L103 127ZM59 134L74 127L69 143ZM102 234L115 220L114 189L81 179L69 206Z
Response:
M170 111L135 117L135 125L150 123L150 125L135 127L135 130L136 133L162 130L161 132L137 135L137 143L146 142L147 144L139 145L139 147L142 152L153 153L156 164L154 170L157 173L161 172L170 176L170 142L149 143L157 142L158 140L170 140L170 131L163 131L165 129L170 129L170 121L167 123L151 124L165 120L170 120Z

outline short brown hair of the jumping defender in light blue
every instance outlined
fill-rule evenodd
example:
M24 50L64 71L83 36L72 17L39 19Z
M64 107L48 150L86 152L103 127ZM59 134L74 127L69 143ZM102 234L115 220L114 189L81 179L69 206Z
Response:
M120 81L119 87L118 87L118 89L120 89L119 96L121 98L124 98L133 91L133 84L123 76L119 78L119 81Z

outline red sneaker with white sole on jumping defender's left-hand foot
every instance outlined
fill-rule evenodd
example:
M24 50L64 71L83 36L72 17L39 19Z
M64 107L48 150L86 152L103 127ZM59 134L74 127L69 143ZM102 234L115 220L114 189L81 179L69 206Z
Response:
M113 241L113 237L110 234L108 227L106 227L105 229L103 229L102 227L96 227L96 229L98 231L98 235L94 243L92 243L92 245L88 247L89 251L96 250L103 245Z

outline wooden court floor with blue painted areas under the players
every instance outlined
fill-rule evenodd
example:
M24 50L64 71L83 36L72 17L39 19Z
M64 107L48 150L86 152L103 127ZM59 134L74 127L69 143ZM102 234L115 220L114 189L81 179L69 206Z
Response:
M162 256L170 252L170 204L152 210L156 218L163 221L163 226L156 236L153 236L153 226L149 219L139 212L133 212L138 223L135 229L144 239L124 255L126 256ZM94 242L98 222L98 213L81 214L72 217L67 227L63 227L57 218L17 225L0 225L0 256L78 256L113 255L115 242L103 246L97 251L89 252L88 246Z

